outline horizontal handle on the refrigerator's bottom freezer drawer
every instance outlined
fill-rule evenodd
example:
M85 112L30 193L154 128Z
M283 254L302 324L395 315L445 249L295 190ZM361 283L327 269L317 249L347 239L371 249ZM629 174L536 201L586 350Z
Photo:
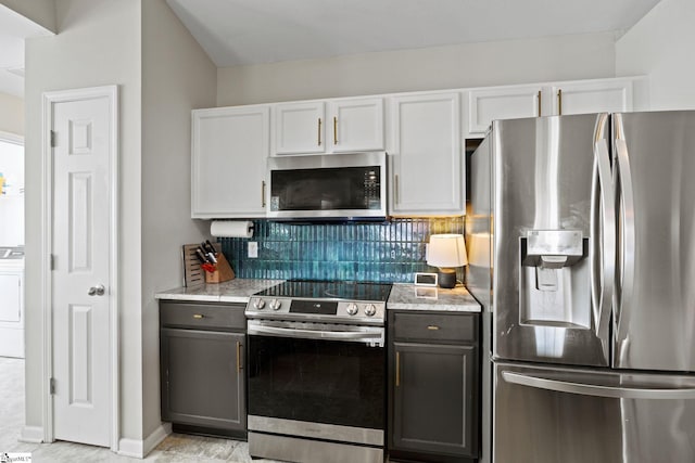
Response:
M695 399L695 388L658 388L658 387L620 387L595 384L573 383L569 381L549 380L529 374L502 372L507 383L536 389L554 390L557 393L578 394L581 396L606 397L611 399Z

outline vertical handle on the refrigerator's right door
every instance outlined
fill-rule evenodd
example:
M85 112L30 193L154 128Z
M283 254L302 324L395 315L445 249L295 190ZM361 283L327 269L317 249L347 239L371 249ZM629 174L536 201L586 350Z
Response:
M635 263L635 222L634 222L634 190L632 188L632 173L630 170L630 153L624 140L624 128L622 115L615 114L616 124L616 153L618 164L618 182L620 197L622 198L621 222L622 222L622 253L621 253L621 276L620 294L616 304L616 323L618 326L616 342L621 343L628 337L630 325L630 298L634 288L634 263Z

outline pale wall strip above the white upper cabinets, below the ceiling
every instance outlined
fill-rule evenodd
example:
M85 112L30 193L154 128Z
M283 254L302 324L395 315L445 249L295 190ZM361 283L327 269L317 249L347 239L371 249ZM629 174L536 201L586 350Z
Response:
M219 68L217 105L614 77L612 34Z

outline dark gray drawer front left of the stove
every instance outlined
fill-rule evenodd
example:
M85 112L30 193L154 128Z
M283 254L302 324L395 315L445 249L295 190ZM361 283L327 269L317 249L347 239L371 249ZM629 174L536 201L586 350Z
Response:
M160 325L198 330L244 330L243 304L160 303Z

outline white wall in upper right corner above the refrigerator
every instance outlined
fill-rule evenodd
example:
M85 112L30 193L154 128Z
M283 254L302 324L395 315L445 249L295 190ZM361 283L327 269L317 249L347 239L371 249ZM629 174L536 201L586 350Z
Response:
M661 0L616 43L616 75L646 75L652 110L695 108L695 2Z

